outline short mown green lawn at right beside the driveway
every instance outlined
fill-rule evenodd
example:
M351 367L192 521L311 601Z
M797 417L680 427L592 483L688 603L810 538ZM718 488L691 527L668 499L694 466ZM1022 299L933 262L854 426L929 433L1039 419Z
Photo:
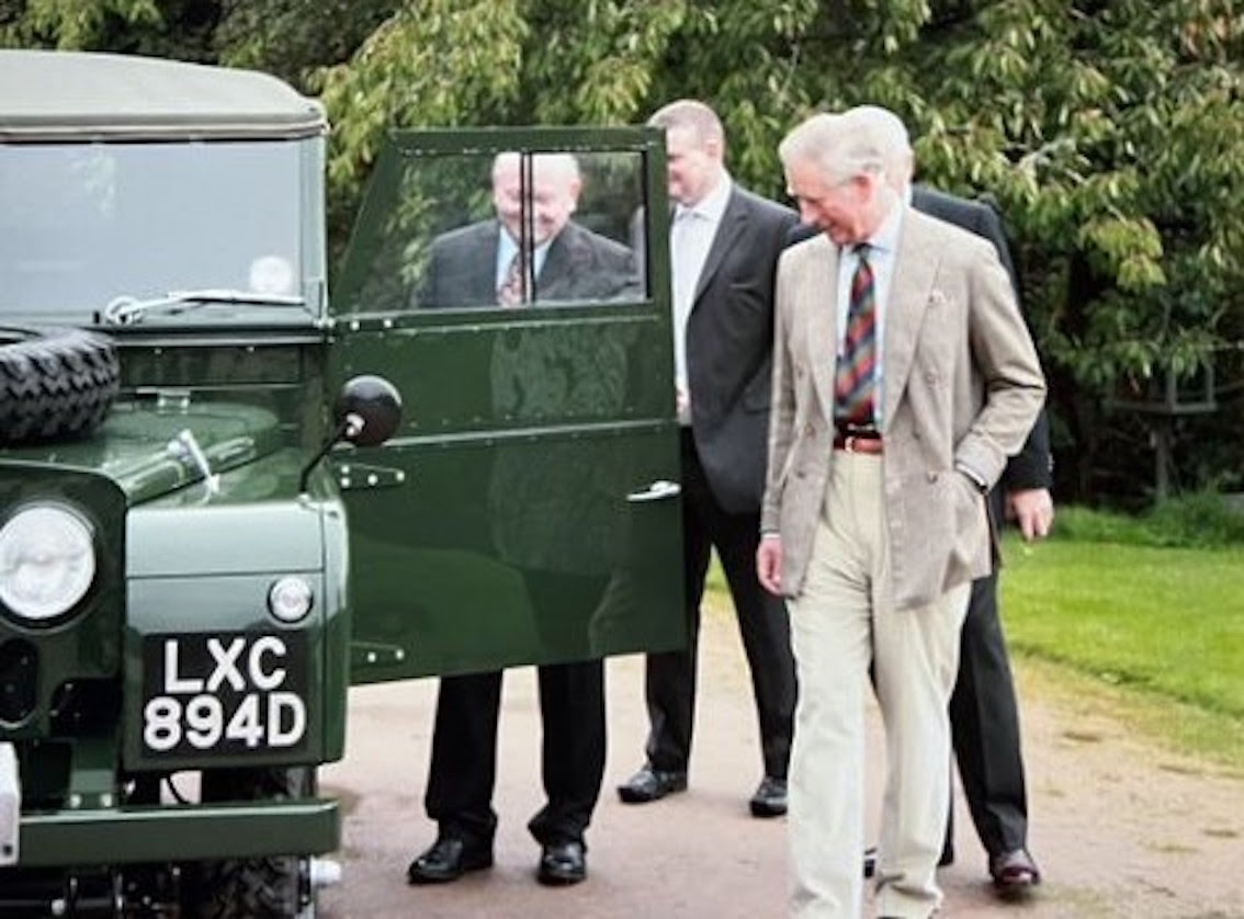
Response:
M1244 767L1244 547L1008 538L1005 558L1013 653L1127 690L1110 695L1138 729Z

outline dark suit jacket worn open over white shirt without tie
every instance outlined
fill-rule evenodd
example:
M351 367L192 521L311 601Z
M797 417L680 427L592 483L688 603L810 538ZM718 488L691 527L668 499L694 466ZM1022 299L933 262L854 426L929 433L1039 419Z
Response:
M735 185L687 321L695 448L733 514L758 512L764 494L774 275L795 223L794 211Z

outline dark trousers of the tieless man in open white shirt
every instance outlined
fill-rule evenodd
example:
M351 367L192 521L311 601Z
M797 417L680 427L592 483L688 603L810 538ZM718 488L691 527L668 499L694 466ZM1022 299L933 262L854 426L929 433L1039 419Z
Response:
M795 720L795 659L785 603L756 580L760 514L728 514L718 505L689 430L683 432L682 475L688 647L648 655L648 762L658 770L684 771L690 759L700 599L710 551L717 548L751 669L765 775L785 778Z

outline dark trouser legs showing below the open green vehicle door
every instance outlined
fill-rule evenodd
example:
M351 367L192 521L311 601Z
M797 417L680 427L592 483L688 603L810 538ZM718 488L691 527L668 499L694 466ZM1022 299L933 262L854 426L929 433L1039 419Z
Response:
M525 572L537 624L566 608L595 608L598 578ZM554 639L545 635L545 644ZM545 664L536 672L544 729L541 772L546 803L527 823L540 843L582 841L605 778L605 664ZM432 767L424 808L440 832L490 846L496 831L496 726L501 672L445 677L437 696Z

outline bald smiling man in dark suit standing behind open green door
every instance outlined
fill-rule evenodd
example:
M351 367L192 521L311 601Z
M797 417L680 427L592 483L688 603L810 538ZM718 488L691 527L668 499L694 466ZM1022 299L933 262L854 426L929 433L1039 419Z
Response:
M611 297L633 285L631 250L570 220L580 190L575 159L536 154L531 167L524 183L518 154L496 158L493 198L498 219L433 242L420 305L521 307L559 298ZM521 218L524 201L531 213L526 221ZM525 575L537 616L542 606L566 606L567 597L581 597L586 614L597 598L573 573L532 570ZM547 802L527 827L541 846L540 882L573 884L587 875L583 833L605 775L603 664L598 659L549 664L539 668L537 678ZM412 884L455 880L464 872L493 864L500 695L501 672L440 681L424 796L438 834L411 863L407 877Z

